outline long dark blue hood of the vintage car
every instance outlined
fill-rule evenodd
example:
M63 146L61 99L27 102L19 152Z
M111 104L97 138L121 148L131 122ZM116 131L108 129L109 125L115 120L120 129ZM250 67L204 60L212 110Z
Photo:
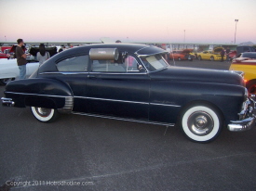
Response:
M165 70L150 73L150 77L153 80L244 85L243 78L236 72L229 70L168 67Z

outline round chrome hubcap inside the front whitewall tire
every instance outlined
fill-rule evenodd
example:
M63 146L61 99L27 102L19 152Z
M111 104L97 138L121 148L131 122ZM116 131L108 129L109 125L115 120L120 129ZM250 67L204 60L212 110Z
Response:
M193 134L203 136L212 131L214 121L209 113L196 111L189 116L187 125Z

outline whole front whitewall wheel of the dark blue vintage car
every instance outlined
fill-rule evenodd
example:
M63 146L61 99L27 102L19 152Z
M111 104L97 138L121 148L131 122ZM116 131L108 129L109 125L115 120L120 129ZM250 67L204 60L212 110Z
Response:
M198 143L213 141L222 130L222 117L209 106L193 106L182 114L182 132L188 139Z

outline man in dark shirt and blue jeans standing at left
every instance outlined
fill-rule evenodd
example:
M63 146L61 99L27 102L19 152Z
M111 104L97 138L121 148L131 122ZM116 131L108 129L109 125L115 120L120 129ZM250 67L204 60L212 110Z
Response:
M22 80L22 79L26 79L26 64L27 64L26 58L27 58L27 56L22 49L22 45L24 45L23 40L18 39L17 43L18 43L18 45L15 50L15 56L17 58L17 64L18 64L19 70L20 70L20 80Z

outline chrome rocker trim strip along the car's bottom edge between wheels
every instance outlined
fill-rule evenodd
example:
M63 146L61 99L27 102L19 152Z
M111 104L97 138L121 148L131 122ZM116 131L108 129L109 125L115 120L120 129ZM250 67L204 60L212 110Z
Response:
M114 116L104 116L104 115L97 115L92 113L80 113L80 112L72 112L75 115L85 115L90 117L96 118L105 118L111 120L119 120L119 121L132 121L132 122L141 122L141 123L150 123L150 124L158 124L158 125L167 125L167 126L174 126L175 123L166 123L166 122L157 122L157 121L143 121L143 120L136 120L136 119L128 119L128 118L118 118Z

